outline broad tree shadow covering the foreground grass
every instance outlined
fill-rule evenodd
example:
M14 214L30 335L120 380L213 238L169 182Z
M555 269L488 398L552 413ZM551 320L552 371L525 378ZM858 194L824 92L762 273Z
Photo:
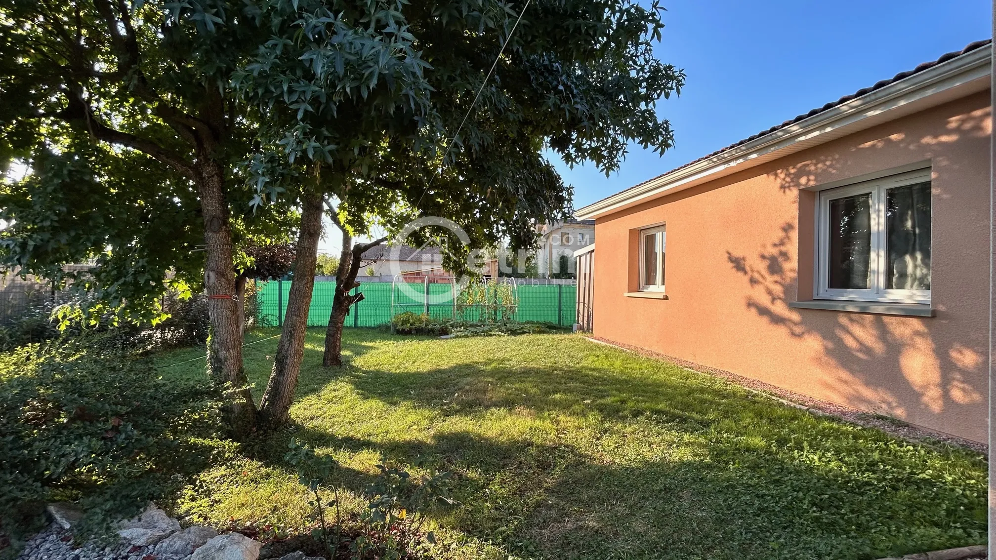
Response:
M984 541L982 496L965 499L942 476L870 477L732 434L703 441L698 456L634 461L460 431L390 442L306 427L295 436L456 472L463 505L433 516L524 557L843 560ZM340 468L328 482L359 493L372 481ZM977 518L952 511L973 504Z

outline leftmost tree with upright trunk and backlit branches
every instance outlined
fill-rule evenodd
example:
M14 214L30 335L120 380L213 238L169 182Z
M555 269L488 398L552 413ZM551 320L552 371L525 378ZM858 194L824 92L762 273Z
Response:
M80 162L83 141L76 139L86 137L110 146L91 150L103 160L92 161L94 166L110 167L109 160L140 152L160 172L168 169L170 181L192 190L197 203L184 207L199 217L203 235L212 329L208 367L215 379L233 386L227 416L237 433L249 432L255 416L233 299L229 202L233 165L252 148L252 120L229 85L235 66L267 40L254 14L251 3L214 0L0 0L0 160L30 159L36 172L45 152L66 164ZM139 167L127 169L135 180L142 176ZM61 175L37 176L53 188L69 188L52 182ZM156 227L146 225L153 232ZM44 256L29 252L19 258ZM140 270L108 273L135 277L126 285L132 293L122 294L128 299L147 297L162 281Z

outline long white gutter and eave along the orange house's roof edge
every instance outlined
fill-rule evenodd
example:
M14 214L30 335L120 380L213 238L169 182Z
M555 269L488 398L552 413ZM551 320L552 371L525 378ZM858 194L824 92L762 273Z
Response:
M991 48L976 49L799 123L654 177L575 212L591 219L702 184L989 88ZM734 168L735 167L735 168Z

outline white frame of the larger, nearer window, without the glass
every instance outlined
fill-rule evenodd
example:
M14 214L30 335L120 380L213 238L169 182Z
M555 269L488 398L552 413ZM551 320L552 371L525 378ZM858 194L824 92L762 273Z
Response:
M885 230L886 190L931 180L929 168L821 190L817 203L816 299L930 303L930 290L886 290L888 251ZM830 201L856 194L871 193L871 261L869 289L830 288ZM933 204L931 204L931 220ZM931 239L931 248L933 240Z

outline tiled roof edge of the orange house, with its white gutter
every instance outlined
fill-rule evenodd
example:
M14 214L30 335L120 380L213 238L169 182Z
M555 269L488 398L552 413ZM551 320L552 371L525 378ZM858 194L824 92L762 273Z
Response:
M666 183L667 180L670 177L682 174L681 171L683 171L685 169L689 169L689 168L696 167L696 166L701 166L701 165L698 165L700 163L709 161L710 163L716 163L716 164L718 164L718 163L723 162L723 156L724 155L728 155L728 154L743 155L744 153L748 152L749 148L751 148L751 147L758 147L758 148L760 148L760 147L765 146L765 141L766 140L782 140L782 139L785 139L786 137L788 137L788 136L790 136L792 134L795 134L797 132L803 132L804 130L807 129L807 126L812 127L814 125L822 124L822 122L821 122L821 117L822 116L828 116L828 118L824 119L823 121L829 121L830 118L838 118L838 114L841 114L842 116L854 117L855 115L851 115L851 114L858 113L858 114L860 114L860 115L858 115L858 118L869 118L869 119L871 119L872 117L879 116L884 110L880 110L880 111L877 111L877 112L871 111L870 105L871 105L871 103L879 103L879 101L881 101L881 100L871 100L869 104L863 104L861 102L866 101L866 100L868 100L870 98L874 98L875 97L875 92L880 92L882 90L889 90L890 92L894 91L897 95L901 94L901 93L903 93L902 86L906 82L912 81L910 79L913 79L914 77L916 77L918 75L931 74L932 75L931 78L936 78L935 80L933 80L933 82L931 82L930 80L927 80L927 79L921 81L923 83L926 83L928 86L935 86L933 88L933 91L930 91L930 90L924 91L923 92L923 97L928 96L928 95L932 95L932 94L942 93L946 89L953 89L955 87L962 86L962 85L964 85L967 82L977 82L978 81L978 76L976 76L975 74L972 74L970 77L966 78L966 80L964 80L964 81L960 81L960 82L955 81L955 82L953 82L951 84L944 84L943 80L945 80L947 78L950 78L950 77L945 75L945 73L943 72L943 68L942 67L950 66L950 65L953 65L953 64L957 64L959 62L963 62L965 59L968 59L968 58L971 58L971 61L968 61L967 63L965 63L965 64L962 65L963 67L965 67L964 70L966 72L970 71L970 70L976 70L981 65L990 64L991 60L990 60L990 57L988 55L988 50L982 51L982 49L983 49L983 47L989 46L991 44L992 44L992 40L991 39L986 39L984 41L976 41L974 43L970 43L964 49L962 49L960 51L953 52L953 53L947 53L945 55L942 55L940 58L938 58L935 61L925 62L923 64L920 64L919 66L917 66L916 68L914 68L912 70L909 70L909 71L906 71L906 72L900 72L899 74L896 74L892 78L876 82L873 86L871 86L869 88L864 88L864 89L858 90L854 94L851 94L849 96L844 96L843 98L841 98L841 99L839 99L837 101L830 102L827 105L824 105L823 107L814 109L814 110L810 111L809 113L806 113L805 115L799 115L795 119L790 119L789 121L785 121L784 123L782 123L780 125L776 125L776 126L772 127L771 129L768 129L767 131L762 131L762 132L760 132L760 133L758 133L758 134L756 134L756 135L754 135L752 137L749 137L749 138L746 138L744 140L739 140L737 142L731 143L730 145L727 145L726 147L720 148L720 149L718 149L716 151L713 151L712 153L709 153L707 155L703 155L702 157L699 157L698 159L694 159L692 161L689 161L689 162L687 162L687 163L685 163L685 164L683 164L683 165L681 165L679 167L675 167L675 168L673 168L673 169L671 169L671 170L669 170L669 171L667 171L665 173L662 173L662 174L657 175L657 176L655 176L653 178L647 179L647 180L645 180L643 182L640 182L638 184L630 186L629 188L623 189L620 192L617 192L617 193L612 194L610 196L607 196L607 197L605 197L605 198L603 198L601 200L593 202L593 203L591 203L591 204L589 204L589 205L587 205L587 206L579 209L577 212L575 212L575 216L582 217L582 218L584 218L584 217L594 217L594 216L597 216L597 215L604 215L605 213L608 213L609 210L614 210L615 211L615 210L621 209L620 207L618 207L618 206L620 206L620 204L616 204L613 207L608 207L608 206L611 206L611 205L610 204L606 204L606 203L608 201L610 201L610 200L622 202L627 197L627 195L630 194L630 193L633 194L633 195L635 195L635 194L641 194L640 191L641 191L641 189L643 189L643 187L646 187L647 185L654 185L654 186L656 186L656 185L662 185L663 183ZM971 53L974 53L974 55L970 55ZM985 60L976 61L975 59L985 59ZM958 69L955 70L955 72L958 72L958 71L961 71L961 70L962 70L962 68L959 67ZM991 73L991 67L986 72L987 75L989 73ZM934 77L933 75L936 75L936 77ZM921 84L917 83L917 84L910 84L909 87L911 89L912 87L921 87L922 88L923 86ZM988 87L988 81L986 81L986 87ZM978 90L978 91L981 91L981 90ZM971 92L969 92L969 93L971 93ZM882 95L881 97L885 98L886 96ZM893 101L893 100L887 100L887 101ZM918 101L918 100L913 100L913 101ZM900 105L908 105L909 103L910 103L909 101L904 101ZM895 108L894 107L886 108L886 110L890 110L890 109L895 109ZM834 112L833 110L839 110L839 111ZM849 111L850 111L851 114L849 114ZM831 113L833 113L833 115L829 115ZM848 115L845 115L845 114L848 114ZM895 118L898 118L898 117L901 117L901 116L904 116L904 115L898 115ZM880 122L885 122L885 120L882 120ZM878 124L878 123L874 123L874 124ZM873 126L873 125L871 125L871 126ZM854 131L854 132L857 132L857 131ZM785 134L780 134L780 133L785 133ZM815 137L815 136L817 136L817 135L814 134L811 137L808 137L808 138L802 139L802 140L809 140L810 138ZM839 135L839 136L837 136L835 138L840 138L840 136L844 136L844 135ZM797 141L802 141L802 140L797 140ZM834 139L831 138L829 140L834 140ZM824 141L829 141L829 140L824 140ZM816 145L817 143L822 143L822 142L810 142L809 145L805 145L803 148L805 148L805 147L811 147L812 145ZM737 149L739 147L745 147L745 148L748 148L748 149ZM775 149L781 149L781 148L779 148L777 146L773 146L773 147ZM774 149L772 149L772 151L774 151ZM769 160L769 159L764 159L764 160ZM732 163L732 165L738 164L740 162L742 162L742 160L734 162L734 163ZM763 162L763 160L756 160L755 161L755 163L760 163L760 162ZM728 166L732 166L732 165L728 165ZM696 169L696 170L698 170L698 169ZM713 178L716 178L716 177L713 177ZM701 182L704 182L704 181L698 181L695 184L701 184ZM687 186L692 186L692 185L688 184ZM641 198L641 200L642 200L642 198ZM587 221L587 220L583 220L583 221Z

